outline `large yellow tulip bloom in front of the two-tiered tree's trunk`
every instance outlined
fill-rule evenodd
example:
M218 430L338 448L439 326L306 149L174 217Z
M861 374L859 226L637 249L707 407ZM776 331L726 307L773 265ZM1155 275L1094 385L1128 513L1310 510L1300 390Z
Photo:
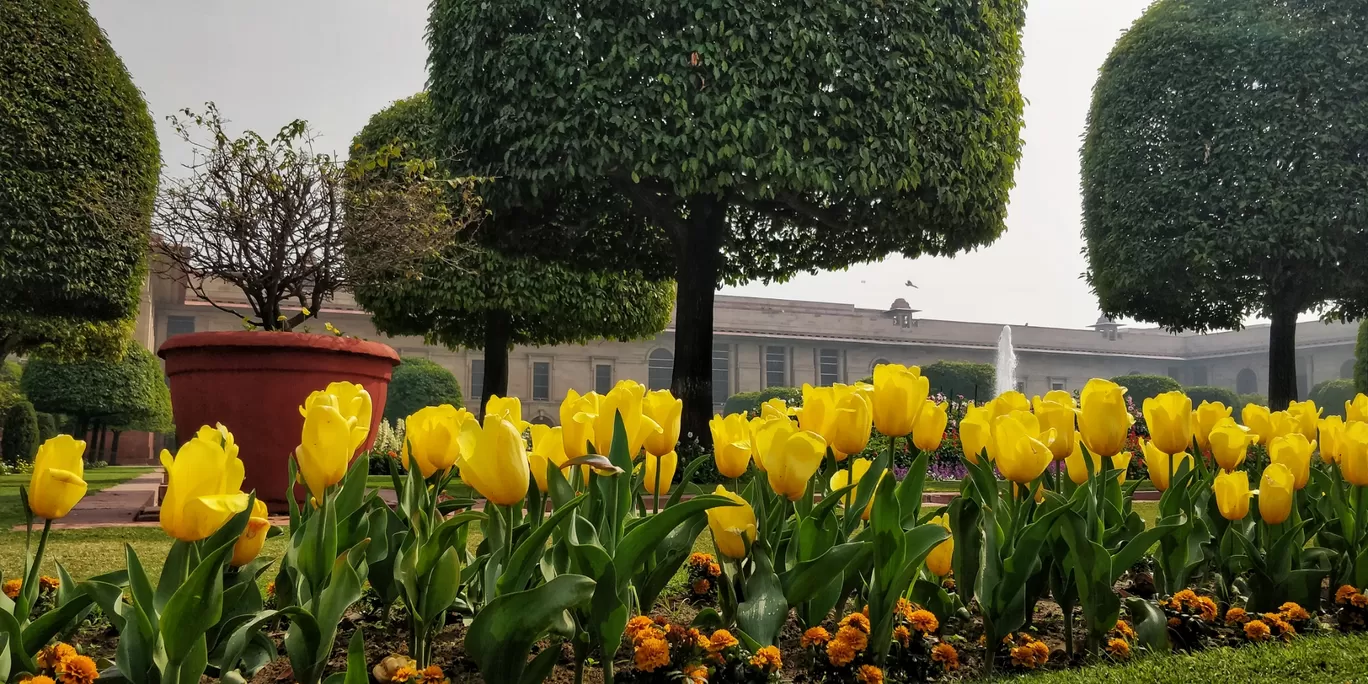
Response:
M531 466L527 443L508 415L486 409L484 424L461 424L461 480L490 503L512 506L527 497Z

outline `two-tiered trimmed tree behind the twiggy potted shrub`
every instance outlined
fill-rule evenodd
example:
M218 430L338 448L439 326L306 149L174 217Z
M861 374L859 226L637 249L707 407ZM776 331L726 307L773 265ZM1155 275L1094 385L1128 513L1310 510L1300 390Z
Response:
M406 172L404 160L419 161L424 178L443 182L451 160L436 153L434 130L425 93L399 100L371 118L352 145L352 166L357 172L349 185L349 201L352 207L369 202L358 215L386 215L376 209L386 201L384 193L402 190L408 183L382 183ZM384 163L375 163L378 157ZM480 190L498 185L494 179ZM416 202L402 205L412 212ZM646 278L629 265L616 271L580 269L535 256L509 256L480 242L479 233L501 234L514 226L546 226L547 234L554 234L561 224L550 218L568 220L572 207L580 204L560 204L547 213L494 209L475 228L475 235L431 254L417 268L387 272L372 264L365 278L353 279L356 301L372 313L380 332L421 335L451 349L483 349L480 397L508 394L508 356L513 345L629 341L665 330L674 297L668 280ZM367 260L369 254L352 249L347 259Z

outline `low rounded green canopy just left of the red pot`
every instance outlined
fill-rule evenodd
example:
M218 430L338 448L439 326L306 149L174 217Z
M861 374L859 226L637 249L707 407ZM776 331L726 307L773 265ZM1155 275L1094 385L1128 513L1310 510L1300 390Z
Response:
M114 430L172 430L171 393L161 364L137 342L127 342L119 361L33 358L19 387L44 413L97 420Z

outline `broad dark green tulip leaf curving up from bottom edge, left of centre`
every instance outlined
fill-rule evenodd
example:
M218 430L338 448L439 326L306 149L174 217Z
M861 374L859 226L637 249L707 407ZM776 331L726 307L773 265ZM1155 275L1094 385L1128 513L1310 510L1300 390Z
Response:
M521 683L532 644L565 610L594 595L594 580L561 575L527 591L497 596L475 616L465 650L484 681Z

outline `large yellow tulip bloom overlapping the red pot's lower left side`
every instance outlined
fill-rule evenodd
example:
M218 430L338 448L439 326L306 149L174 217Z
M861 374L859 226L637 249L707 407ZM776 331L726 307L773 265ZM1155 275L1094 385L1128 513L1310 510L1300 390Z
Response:
M323 406L331 409L319 405ZM182 542L208 539L248 508L248 495L241 491L242 461L237 457L237 446L223 435L205 425L194 439L181 445L175 458L171 451L161 450L161 466L167 471L161 529ZM230 445L231 453L226 449Z

